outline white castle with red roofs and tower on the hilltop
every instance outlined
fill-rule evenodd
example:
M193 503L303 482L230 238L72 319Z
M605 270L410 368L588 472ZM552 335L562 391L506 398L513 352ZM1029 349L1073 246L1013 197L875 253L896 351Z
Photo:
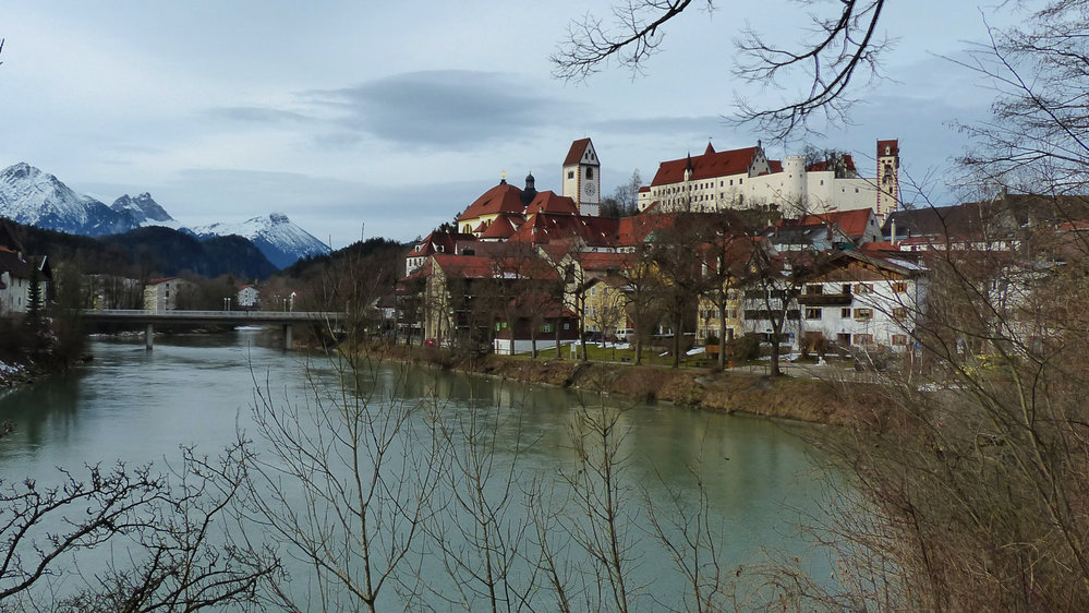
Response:
M639 193L639 209L713 212L776 207L788 215L872 208L879 223L898 208L899 145L878 141L878 178L859 177L850 155L807 166L804 156L767 159L754 147L663 161L650 188Z

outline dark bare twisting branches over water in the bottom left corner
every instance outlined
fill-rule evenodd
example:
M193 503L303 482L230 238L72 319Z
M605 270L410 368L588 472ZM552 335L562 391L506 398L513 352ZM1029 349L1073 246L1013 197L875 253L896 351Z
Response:
M241 459L237 448L218 460L185 448L166 474L118 464L88 466L86 477L61 470L56 485L4 482L0 608L197 611L257 602L280 567L267 549L232 544ZM52 593L47 584L81 577L88 556L107 563L86 587Z

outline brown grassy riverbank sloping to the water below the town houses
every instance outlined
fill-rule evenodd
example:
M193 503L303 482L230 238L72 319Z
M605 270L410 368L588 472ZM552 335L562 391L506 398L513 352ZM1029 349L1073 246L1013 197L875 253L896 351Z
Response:
M397 347L390 351L390 357L513 381L604 390L640 401L667 401L704 410L847 428L870 429L872 408L882 406L880 387L866 383L850 384L848 399L847 387L808 377L579 360L529 360L495 354L456 360L434 348ZM860 406L870 407L867 414L859 413L857 407Z

